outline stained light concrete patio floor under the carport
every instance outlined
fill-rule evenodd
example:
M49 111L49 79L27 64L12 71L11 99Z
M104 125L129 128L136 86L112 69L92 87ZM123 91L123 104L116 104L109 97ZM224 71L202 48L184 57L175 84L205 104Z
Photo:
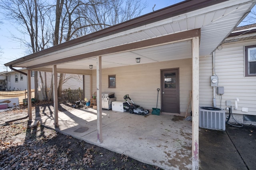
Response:
M97 143L95 109L72 109L36 117L41 125L163 169L192 169L192 122L174 115L145 116L102 109L103 142Z

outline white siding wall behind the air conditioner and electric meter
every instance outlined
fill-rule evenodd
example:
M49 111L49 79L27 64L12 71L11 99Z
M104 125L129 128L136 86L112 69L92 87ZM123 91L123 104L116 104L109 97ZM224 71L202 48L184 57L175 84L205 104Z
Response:
M256 77L244 76L244 46L256 45L256 41L243 41L222 45L215 53L215 74L218 86L224 87L224 94L216 94L216 106L225 109L226 100L232 104L232 113L256 115ZM213 89L210 86L212 76L212 56L200 57L200 106L212 106ZM235 99L239 98L238 109L235 110ZM247 107L248 112L242 111ZM228 111L226 111L228 112Z

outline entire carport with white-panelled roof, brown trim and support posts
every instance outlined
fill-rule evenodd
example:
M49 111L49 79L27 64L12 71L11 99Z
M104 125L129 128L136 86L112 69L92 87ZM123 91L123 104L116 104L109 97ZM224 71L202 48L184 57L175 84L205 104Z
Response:
M52 72L54 125L58 127L57 73L91 75L97 91L97 141L102 138L102 69L191 59L192 169L198 169L199 58L212 55L255 0L187 0L22 57L5 66ZM93 65L95 70L89 68ZM94 74L94 71L96 74ZM30 90L30 71L28 71ZM30 91L29 91L30 92ZM28 95L30 120L31 95Z

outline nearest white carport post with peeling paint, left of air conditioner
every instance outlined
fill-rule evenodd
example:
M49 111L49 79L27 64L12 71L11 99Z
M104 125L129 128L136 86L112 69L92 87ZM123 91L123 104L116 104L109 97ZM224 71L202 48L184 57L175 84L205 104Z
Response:
M192 170L199 166L199 40L192 39Z

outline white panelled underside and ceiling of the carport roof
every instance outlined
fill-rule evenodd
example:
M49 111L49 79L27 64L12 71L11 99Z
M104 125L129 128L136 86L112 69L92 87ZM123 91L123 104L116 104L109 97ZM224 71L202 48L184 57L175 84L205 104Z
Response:
M250 12L256 0L228 0L211 6L206 6L164 20L158 20L139 27L134 27L118 33L102 36L78 45L69 46L54 52L45 53L34 58L17 60L15 67L28 67L38 70L52 69L51 62L67 57L84 55L84 59L58 63L57 68L89 69L96 65L96 56L86 58L88 53L119 47L134 42L142 42L156 37L163 37L192 29L201 30L200 56L210 55L222 41L231 33L240 21ZM183 4L186 3L183 2ZM149 14L150 16L150 14ZM69 43L69 42L66 42ZM71 42L70 42L71 43ZM148 47L103 54L102 68L127 66L137 64L135 58L141 58L140 64L191 58L191 41L173 41ZM48 62L42 68L35 65ZM33 67L34 66L34 67ZM40 66L41 67L41 66ZM96 68L96 66L94 67Z

